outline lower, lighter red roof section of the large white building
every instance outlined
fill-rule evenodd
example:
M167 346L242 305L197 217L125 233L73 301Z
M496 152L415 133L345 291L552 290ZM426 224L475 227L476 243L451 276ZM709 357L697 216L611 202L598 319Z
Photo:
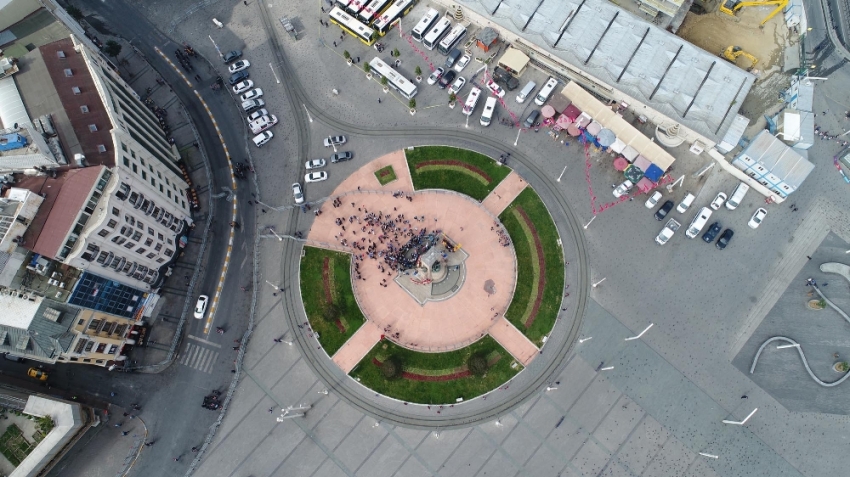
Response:
M103 169L104 166L72 169L58 174L55 179L49 176L18 176L15 187L44 197L24 234L24 248L55 258Z

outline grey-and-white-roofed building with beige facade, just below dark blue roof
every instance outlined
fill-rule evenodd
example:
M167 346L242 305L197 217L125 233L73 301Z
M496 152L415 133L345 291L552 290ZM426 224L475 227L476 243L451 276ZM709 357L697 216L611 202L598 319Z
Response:
M121 365L138 322L0 289L0 351L42 363Z

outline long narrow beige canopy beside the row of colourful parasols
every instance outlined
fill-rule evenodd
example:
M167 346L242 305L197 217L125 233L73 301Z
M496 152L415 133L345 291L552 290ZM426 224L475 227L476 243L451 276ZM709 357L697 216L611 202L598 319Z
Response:
M602 127L610 129L623 143L632 146L662 170L666 171L676 160L577 83L570 81L561 93L572 101L572 105L583 111L583 114L590 115Z

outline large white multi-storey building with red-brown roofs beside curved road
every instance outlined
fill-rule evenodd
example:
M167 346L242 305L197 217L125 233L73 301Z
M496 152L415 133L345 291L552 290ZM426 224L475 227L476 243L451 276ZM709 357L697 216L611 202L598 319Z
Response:
M158 288L192 223L179 154L159 118L74 36L19 64L13 79L27 112L51 118L77 166L17 177L17 187L44 198L26 247L138 290Z

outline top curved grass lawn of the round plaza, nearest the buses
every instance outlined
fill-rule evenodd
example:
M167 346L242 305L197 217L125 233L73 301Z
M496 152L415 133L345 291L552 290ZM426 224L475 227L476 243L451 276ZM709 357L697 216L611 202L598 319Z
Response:
M448 189L482 201L511 172L484 154L466 149L421 146L404 152L417 190Z

